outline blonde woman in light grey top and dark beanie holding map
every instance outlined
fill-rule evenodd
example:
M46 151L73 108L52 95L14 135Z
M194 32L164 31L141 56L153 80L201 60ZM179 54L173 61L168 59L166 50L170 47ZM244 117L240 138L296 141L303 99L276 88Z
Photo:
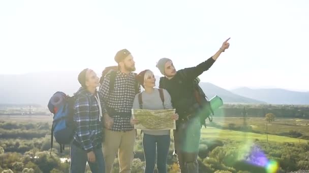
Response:
M142 109L160 110L172 109L171 97L166 90L162 90L164 102L162 102L162 93L160 90L154 88L156 85L156 78L152 71L144 70L140 72L136 79L145 89L141 93ZM133 109L140 109L139 94L135 96L133 102ZM174 120L178 119L178 114L172 117ZM136 119L132 119L133 124L137 124ZM157 168L159 173L166 173L166 161L170 147L170 130L143 130L143 150L145 156L145 173L153 172L156 163L156 149L157 149Z

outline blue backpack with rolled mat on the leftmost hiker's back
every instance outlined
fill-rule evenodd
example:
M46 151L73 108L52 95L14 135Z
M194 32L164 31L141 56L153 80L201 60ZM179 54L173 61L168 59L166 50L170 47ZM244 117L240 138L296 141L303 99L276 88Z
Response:
M60 144L60 153L65 149L65 145L70 145L75 133L74 115L75 96L70 97L63 92L56 92L48 102L48 109L53 113L51 126L51 148L53 138Z

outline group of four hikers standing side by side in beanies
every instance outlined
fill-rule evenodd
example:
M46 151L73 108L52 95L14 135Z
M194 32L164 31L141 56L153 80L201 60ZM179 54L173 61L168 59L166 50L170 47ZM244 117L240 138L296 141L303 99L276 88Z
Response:
M203 92L197 90L198 76L208 70L222 52L229 48L229 39L217 53L195 67L176 71L172 60L162 58L157 68L164 75L156 88L156 78L149 69L134 73L132 54L123 49L116 53L117 70L104 71L100 78L91 69L78 75L81 84L74 94L74 122L76 129L70 148L70 172L84 172L86 163L92 172L112 172L118 154L121 173L131 172L137 119L132 109L175 109L173 130L174 153L181 173L198 172L198 148L201 127L205 119ZM100 83L101 81L101 83ZM144 88L141 92L140 85ZM99 90L97 88L99 87ZM206 100L207 102L207 100ZM143 130L144 172L167 172L170 130Z

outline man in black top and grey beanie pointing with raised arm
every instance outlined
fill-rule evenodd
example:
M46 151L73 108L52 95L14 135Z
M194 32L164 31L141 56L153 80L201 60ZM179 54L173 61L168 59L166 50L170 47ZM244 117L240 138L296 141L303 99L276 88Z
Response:
M230 38L229 38L230 39ZM160 78L159 88L166 89L172 98L173 107L179 115L174 131L174 147L181 173L198 172L197 155L201 137L200 114L205 113L195 95L195 79L208 70L222 52L229 48L228 40L220 50L196 67L175 70L168 58L159 60L157 67L165 75Z

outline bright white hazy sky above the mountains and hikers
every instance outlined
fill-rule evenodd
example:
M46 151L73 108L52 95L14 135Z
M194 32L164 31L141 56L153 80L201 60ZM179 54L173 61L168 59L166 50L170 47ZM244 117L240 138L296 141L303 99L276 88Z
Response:
M224 89L309 91L309 1L0 1L0 74L94 69L128 49L136 72L230 48L201 76Z

